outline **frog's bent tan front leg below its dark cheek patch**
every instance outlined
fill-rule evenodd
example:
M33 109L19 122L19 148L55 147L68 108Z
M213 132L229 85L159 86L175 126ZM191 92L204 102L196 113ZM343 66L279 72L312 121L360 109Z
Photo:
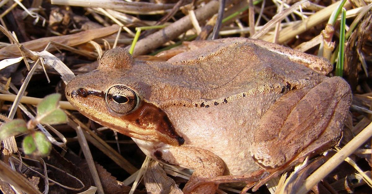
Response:
M192 185L199 182L199 179L218 177L224 173L225 164L221 158L214 153L201 148L180 146L168 149L157 150L154 156L167 164L194 169L194 173L185 185L185 193L215 193L218 184L202 184L194 189Z

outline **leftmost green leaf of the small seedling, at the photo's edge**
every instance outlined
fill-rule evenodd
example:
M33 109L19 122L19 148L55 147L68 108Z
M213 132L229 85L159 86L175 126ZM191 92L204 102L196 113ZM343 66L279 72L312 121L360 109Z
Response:
M0 139L3 140L14 135L25 133L26 131L26 122L22 119L14 119L1 126Z

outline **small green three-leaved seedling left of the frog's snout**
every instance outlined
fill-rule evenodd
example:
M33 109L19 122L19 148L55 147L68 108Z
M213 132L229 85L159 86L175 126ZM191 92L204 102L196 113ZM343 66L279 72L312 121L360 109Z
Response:
M22 119L14 119L0 128L0 140L19 134L27 134L23 139L23 152L35 157L45 157L49 154L52 144L40 131L35 131L38 124L61 124L67 121L66 114L59 108L60 94L46 96L37 106L37 115L27 123Z

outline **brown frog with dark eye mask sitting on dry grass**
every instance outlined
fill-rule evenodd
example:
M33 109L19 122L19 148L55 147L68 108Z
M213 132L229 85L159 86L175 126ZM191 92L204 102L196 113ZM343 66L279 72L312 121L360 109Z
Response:
M184 193L257 187L339 142L352 95L327 59L243 37L187 48L164 62L110 49L65 95L148 157L194 170Z

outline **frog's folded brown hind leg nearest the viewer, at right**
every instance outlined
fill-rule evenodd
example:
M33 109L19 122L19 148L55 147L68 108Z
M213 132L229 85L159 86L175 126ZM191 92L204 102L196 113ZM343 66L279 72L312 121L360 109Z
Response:
M312 89L289 91L260 119L250 145L253 159L275 170L324 151L340 137L350 103L350 87L340 77Z

